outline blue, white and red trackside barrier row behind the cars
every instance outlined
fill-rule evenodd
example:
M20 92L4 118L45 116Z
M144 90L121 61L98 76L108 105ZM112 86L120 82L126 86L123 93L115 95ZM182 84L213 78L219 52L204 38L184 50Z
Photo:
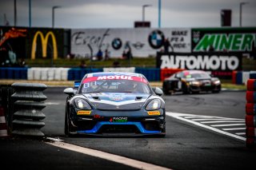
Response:
M140 68L140 67L118 67L118 68L0 68L0 79L13 80L39 80L39 81L79 81L86 73L96 72L129 72L142 73L149 81L163 81L166 77L184 69L158 69L158 68ZM216 77L222 75L214 71L209 72ZM232 82L237 85L246 85L250 78L256 78L256 71L233 71Z

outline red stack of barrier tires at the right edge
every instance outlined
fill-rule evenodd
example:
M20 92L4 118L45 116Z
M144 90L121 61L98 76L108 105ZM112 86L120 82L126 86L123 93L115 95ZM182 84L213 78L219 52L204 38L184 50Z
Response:
M248 79L246 91L246 147L256 146L256 79Z

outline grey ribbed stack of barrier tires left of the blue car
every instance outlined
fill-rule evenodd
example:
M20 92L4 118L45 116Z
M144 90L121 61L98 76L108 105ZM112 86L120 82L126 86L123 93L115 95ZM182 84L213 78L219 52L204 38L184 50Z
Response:
M14 94L11 98L14 101L14 121L12 121L12 134L17 136L45 136L40 131L45 123L42 120L46 117L42 109L46 105L42 102L47 97L42 93L47 88L40 83L14 83Z

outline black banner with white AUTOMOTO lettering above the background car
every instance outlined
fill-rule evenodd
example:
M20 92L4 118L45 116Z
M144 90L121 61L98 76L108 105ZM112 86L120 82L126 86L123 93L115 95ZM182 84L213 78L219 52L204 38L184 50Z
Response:
M158 53L157 67L230 71L242 69L242 58L238 53Z

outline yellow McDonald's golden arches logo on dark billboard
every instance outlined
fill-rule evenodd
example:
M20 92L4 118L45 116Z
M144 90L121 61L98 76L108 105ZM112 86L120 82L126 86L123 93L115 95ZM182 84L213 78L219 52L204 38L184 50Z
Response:
M42 41L42 57L46 57L47 43L48 43L49 37L51 36L52 41L53 41L53 47L51 50L53 50L53 52L54 52L54 60L57 59L58 58L58 49L57 49L56 38L54 36L54 33L52 31L49 31L46 34L46 37L44 37L40 30L38 32L36 32L36 34L34 34L34 39L32 42L31 59L32 60L35 59L35 52L37 50L38 36L41 38L41 41Z

